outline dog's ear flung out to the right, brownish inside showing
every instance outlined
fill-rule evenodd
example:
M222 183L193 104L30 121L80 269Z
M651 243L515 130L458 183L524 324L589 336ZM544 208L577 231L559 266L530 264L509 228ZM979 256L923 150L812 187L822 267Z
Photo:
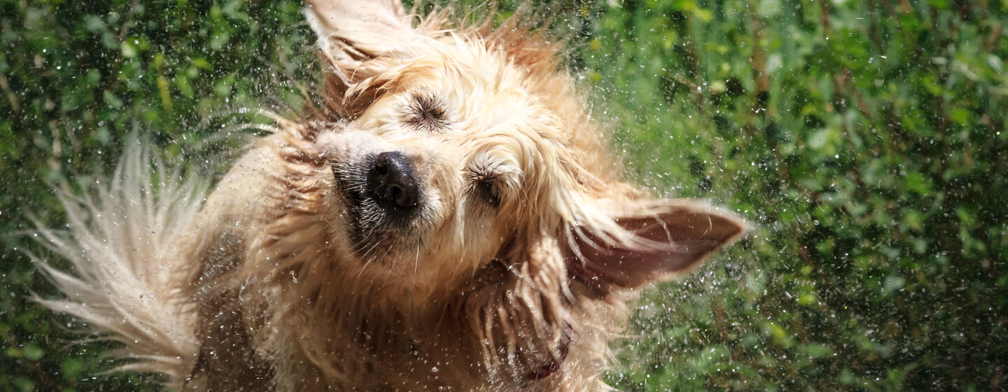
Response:
M729 212L685 200L600 201L608 228L573 228L568 270L600 296L688 272L745 234Z

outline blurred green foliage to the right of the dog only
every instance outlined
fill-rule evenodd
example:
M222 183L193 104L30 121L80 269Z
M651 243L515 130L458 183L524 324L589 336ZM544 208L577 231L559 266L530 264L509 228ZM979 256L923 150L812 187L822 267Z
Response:
M759 228L650 293L619 387L1006 388L1005 2L588 12L640 177Z

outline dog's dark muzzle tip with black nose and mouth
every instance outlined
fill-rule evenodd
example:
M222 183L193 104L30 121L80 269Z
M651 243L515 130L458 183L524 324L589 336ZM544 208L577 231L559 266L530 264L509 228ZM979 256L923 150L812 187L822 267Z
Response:
M364 258L411 247L424 209L424 188L410 159L398 151L334 162L349 237ZM381 246L383 245L383 246Z

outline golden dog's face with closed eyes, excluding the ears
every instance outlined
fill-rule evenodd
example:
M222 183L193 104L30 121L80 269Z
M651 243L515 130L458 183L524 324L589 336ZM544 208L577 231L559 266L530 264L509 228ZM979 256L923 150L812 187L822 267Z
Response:
M459 46L390 70L380 95L320 140L362 268L406 279L478 268L536 204L542 178L529 174L557 169L542 155L555 148L545 145L555 116L513 70L481 73L500 72L502 58Z

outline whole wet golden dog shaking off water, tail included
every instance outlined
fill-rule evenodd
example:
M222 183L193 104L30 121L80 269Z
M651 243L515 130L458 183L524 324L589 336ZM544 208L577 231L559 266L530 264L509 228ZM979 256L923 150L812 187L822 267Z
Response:
M209 197L129 148L61 195L36 298L118 370L214 391L607 390L635 289L743 236L620 179L558 47L511 18L310 0L324 116L276 119ZM155 160L151 166L151 160ZM151 174L156 167L156 175Z

